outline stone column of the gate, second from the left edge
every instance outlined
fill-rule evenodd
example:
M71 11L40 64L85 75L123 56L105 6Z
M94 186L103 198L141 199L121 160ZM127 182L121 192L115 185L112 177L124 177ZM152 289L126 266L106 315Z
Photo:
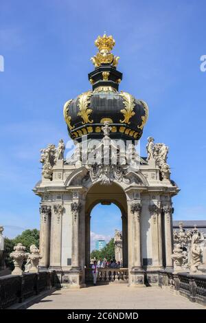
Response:
M55 204L52 209L50 269L61 267L62 213L63 205Z

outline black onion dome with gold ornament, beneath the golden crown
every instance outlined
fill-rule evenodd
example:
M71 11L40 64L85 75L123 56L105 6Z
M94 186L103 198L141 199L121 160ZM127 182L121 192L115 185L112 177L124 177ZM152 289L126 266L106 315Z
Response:
M104 36L100 41L103 39L105 42L108 36ZM148 106L130 93L118 92L122 73L113 65L117 65L119 58L107 53L110 56L106 56L105 60L105 54L103 56L101 51L98 54L94 56L95 70L89 74L92 91L84 92L65 103L64 116L69 135L78 141L84 135L88 139L100 139L103 137L102 126L108 121L112 127L111 138L139 140L148 119ZM104 60L106 63L102 63Z

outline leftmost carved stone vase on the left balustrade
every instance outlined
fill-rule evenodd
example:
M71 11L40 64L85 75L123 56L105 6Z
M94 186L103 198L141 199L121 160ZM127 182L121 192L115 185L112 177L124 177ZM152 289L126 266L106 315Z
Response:
M23 265L23 260L27 258L28 254L25 252L25 247L22 243L17 243L14 246L14 252L10 254L10 257L14 260L14 270L12 271L12 275L22 275L23 270L21 269Z

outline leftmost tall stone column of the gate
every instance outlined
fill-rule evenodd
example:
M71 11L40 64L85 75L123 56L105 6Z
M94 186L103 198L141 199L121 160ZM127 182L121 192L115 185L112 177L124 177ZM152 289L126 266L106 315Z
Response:
M49 252L50 252L50 230L51 230L51 206L41 205L41 227L40 227L40 254L41 261L40 269L49 267Z

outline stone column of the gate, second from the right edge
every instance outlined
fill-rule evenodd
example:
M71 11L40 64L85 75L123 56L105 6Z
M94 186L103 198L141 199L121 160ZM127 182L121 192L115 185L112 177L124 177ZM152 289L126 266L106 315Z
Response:
M159 229L158 229L159 208L156 204L150 204L149 211L151 214L151 227L152 227L152 267L159 267Z

